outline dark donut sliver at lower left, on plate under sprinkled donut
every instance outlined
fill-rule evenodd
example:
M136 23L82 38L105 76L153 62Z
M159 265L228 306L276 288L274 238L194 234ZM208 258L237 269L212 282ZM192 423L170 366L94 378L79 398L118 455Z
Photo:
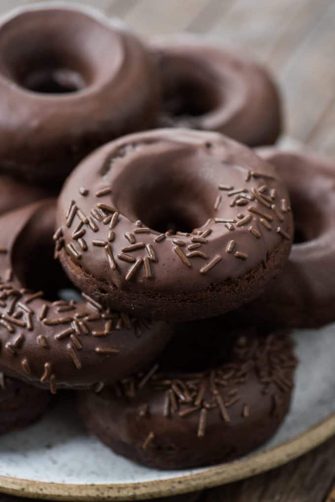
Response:
M0 373L0 434L23 429L48 408L51 395Z

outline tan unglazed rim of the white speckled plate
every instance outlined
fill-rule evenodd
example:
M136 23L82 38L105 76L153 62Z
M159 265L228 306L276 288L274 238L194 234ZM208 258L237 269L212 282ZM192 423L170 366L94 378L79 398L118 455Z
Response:
M335 413L280 446L187 476L119 484L65 484L0 476L0 491L52 500L141 500L177 495L238 481L279 467L335 435Z

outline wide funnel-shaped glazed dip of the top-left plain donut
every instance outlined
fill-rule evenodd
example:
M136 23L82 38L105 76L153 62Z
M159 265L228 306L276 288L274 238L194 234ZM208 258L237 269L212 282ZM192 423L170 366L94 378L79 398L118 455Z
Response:
M83 91L110 78L121 59L118 36L80 11L26 11L0 28L0 72L30 92Z

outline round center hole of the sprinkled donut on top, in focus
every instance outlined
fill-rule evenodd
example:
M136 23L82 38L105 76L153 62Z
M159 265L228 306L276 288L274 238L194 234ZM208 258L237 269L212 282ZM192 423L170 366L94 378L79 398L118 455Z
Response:
M215 197L216 186L182 152L178 160L165 152L164 158L148 157L145 165L130 161L113 185L119 211L158 233L202 226L212 216Z

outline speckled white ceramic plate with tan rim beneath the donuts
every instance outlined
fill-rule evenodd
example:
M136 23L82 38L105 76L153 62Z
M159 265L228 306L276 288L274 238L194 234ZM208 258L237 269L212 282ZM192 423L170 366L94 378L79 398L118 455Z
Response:
M60 500L134 500L215 486L282 465L335 434L334 336L335 324L294 332L300 363L291 411L271 441L238 461L181 471L134 464L87 436L73 395L64 394L40 422L0 439L0 489Z

